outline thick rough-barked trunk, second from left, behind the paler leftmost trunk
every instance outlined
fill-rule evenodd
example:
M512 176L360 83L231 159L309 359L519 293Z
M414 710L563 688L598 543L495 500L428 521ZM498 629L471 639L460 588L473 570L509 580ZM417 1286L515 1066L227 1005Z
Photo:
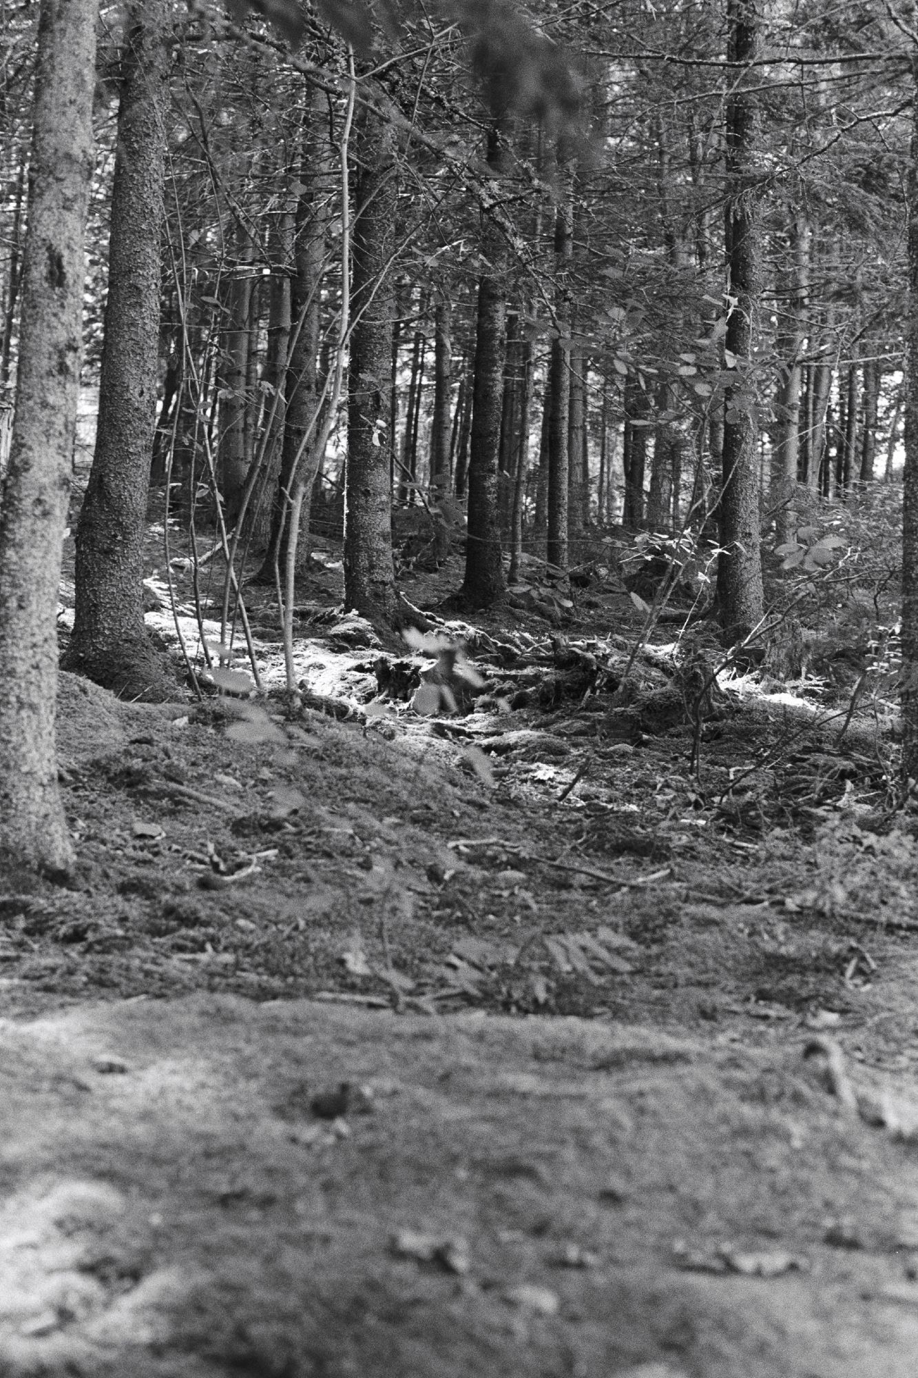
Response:
M160 232L168 101L165 0L127 15L112 190L99 420L76 537L65 667L128 699L178 697L143 626L143 536L156 430Z

